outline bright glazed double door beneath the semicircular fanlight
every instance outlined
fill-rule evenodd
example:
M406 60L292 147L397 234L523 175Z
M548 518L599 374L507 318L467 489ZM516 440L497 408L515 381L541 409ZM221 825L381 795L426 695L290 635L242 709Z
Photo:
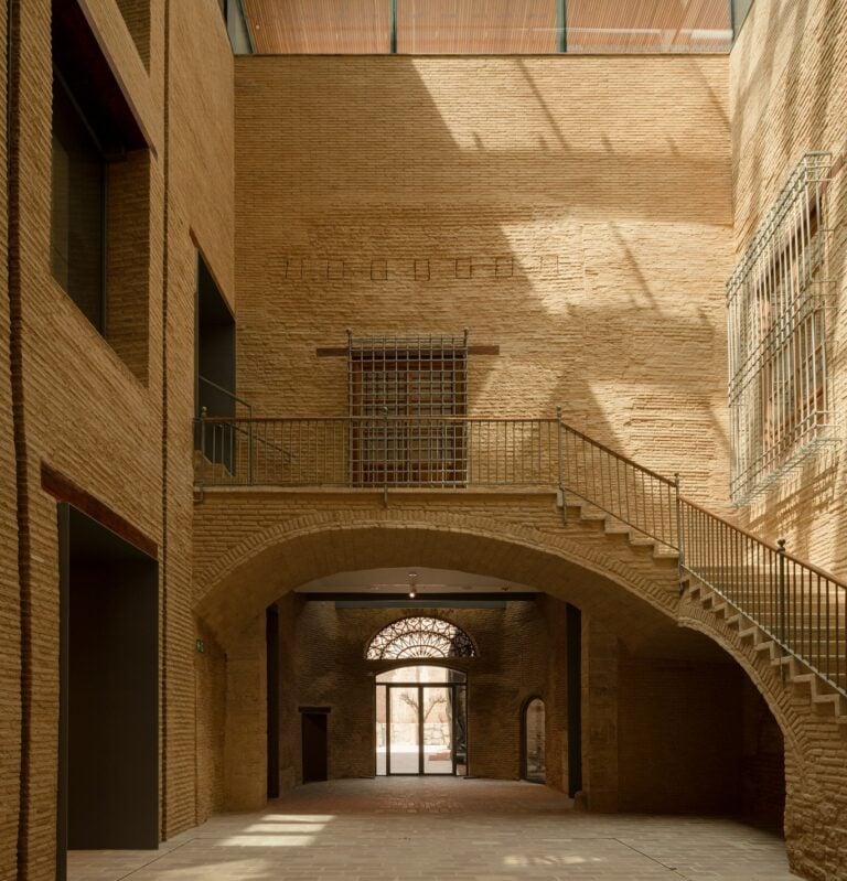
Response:
M376 774L468 774L463 673L418 664L376 677Z

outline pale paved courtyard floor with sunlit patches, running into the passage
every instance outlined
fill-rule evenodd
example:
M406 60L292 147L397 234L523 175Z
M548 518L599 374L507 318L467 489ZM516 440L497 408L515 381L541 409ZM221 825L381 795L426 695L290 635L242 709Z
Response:
M71 881L786 881L783 842L728 819L573 812L544 786L383 777L301 786L158 851L74 851Z

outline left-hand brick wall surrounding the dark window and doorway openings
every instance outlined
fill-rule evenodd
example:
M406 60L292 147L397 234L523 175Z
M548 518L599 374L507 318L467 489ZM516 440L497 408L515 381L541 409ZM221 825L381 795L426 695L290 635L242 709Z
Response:
M20 332L11 341L17 340L19 346L13 359L19 395L15 427L23 442L18 450L18 504L13 472L7 466L0 473L0 494L7 494L0 515L0 701L6 727L0 765L0 863L14 862L17 786L22 780L25 814L20 860L26 866L28 879L33 880L52 878L55 866L58 557L56 505L41 490L42 463L99 499L159 548L162 820L167 835L196 821L195 774L202 758L195 751L190 587L195 241L212 255L208 261L216 277L226 296L234 298L233 72L217 3L170 3L169 17L163 0L121 0L119 4L116 0L85 0L83 6L128 101L150 136L152 150L111 169L112 183L130 175L140 185L121 187L127 197L110 206L109 222L112 229L120 228L122 237L111 237L116 310L109 319L107 341L51 275L51 3L28 0L15 4L13 50L19 58L20 90L13 133L19 190L11 209L19 235L11 240L14 272L10 298L13 309L20 310ZM4 223L4 211L2 217ZM6 236L2 240L7 241ZM131 271L125 271L127 267ZM0 362L4 365L9 364L10 345L7 302L4 297L0 307L0 354L6 353ZM0 366L2 369L8 368ZM3 394L10 388L6 375L7 382L0 384ZM8 429L0 431L0 437L7 444L12 438L11 415L8 398L0 398L0 419L7 420ZM163 439L168 441L164 458ZM0 456L0 461L10 463L12 456ZM26 601L24 623L29 627L23 660L30 674L23 689L30 729L23 775L13 745L20 742L21 688L15 508L24 546L20 590ZM219 705L216 686L210 688L208 700ZM214 737L210 731L205 734ZM12 746L7 749L7 744ZM207 810L215 798L219 801L213 795L201 809Z

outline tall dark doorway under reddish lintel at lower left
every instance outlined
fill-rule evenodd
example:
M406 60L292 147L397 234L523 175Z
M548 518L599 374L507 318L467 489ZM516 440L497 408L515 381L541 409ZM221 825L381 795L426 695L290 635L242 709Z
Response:
M58 866L67 849L159 846L159 572L58 506Z

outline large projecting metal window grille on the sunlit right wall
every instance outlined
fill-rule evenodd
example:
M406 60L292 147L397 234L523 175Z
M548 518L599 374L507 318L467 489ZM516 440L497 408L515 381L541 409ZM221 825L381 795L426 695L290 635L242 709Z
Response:
M801 159L727 284L735 504L835 439L826 278L830 169L829 153Z

